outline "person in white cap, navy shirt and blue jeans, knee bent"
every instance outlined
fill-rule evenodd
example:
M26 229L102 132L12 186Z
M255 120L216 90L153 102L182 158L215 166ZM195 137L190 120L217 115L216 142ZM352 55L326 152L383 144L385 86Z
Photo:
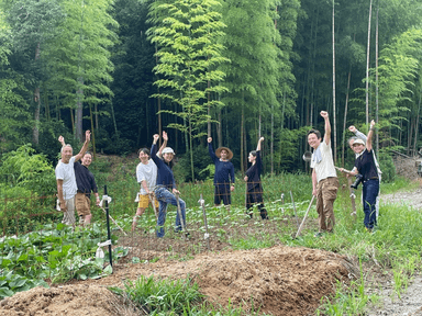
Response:
M178 203L180 205L180 214L182 218L180 218L179 212L177 212L175 227L175 232L178 233L181 232L182 228L180 221L184 221L184 227L186 227L186 203L184 200L176 198L176 194L180 194L180 192L176 188L175 177L169 166L175 157L175 151L173 148L166 147L163 149L163 159L159 159L156 155L158 138L159 135L155 134L153 146L151 147L151 159L153 159L157 166L157 182L154 189L155 198L159 203L156 234L158 238L162 238L165 235L164 224L166 223L167 205L171 204L178 206Z

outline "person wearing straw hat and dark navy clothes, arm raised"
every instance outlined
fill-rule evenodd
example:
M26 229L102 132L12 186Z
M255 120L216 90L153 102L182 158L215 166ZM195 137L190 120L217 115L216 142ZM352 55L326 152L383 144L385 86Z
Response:
M215 165L214 173L214 205L219 206L221 201L230 213L232 204L231 192L234 191L234 166L230 161L233 153L227 147L219 147L215 153L212 148L212 137L208 137L208 151Z

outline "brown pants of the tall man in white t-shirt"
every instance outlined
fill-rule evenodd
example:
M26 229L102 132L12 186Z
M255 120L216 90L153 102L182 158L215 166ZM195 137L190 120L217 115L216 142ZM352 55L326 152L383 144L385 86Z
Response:
M330 177L322 179L316 185L316 212L320 233L333 232L335 225L334 201L337 198L338 179Z

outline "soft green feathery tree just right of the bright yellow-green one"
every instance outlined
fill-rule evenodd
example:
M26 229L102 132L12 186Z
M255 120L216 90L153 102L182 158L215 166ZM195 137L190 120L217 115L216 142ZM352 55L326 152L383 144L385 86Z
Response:
M221 67L227 75L224 86L229 89L222 101L233 111L233 120L240 120L236 122L236 126L240 125L240 136L236 136L241 144L242 172L245 169L247 150L245 131L249 129L246 124L255 124L257 120L260 126L264 115L270 116L270 113L278 112L279 98L284 93L281 88L286 88L292 77L288 52L284 55L280 49L280 33L274 26L277 18L276 4L273 0L227 0L223 2L221 11L223 22L227 25L223 37L223 44L227 47L224 55L231 60ZM285 80L280 82L282 77ZM231 124L233 126L233 122ZM258 127L251 134L258 137L259 133ZM235 135L232 133L231 136Z

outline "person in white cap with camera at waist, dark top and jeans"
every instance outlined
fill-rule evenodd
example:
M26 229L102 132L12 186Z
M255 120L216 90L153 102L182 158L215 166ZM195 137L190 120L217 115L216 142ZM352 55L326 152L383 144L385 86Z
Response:
M363 178L363 204L365 219L364 225L368 232L374 229L377 225L375 204L379 192L379 178L377 172L377 166L373 155L373 135L374 135L374 120L370 121L370 128L366 140L355 139L353 142L353 151L356 154L355 167L352 169L352 176L359 173ZM348 176L348 174L347 174Z

